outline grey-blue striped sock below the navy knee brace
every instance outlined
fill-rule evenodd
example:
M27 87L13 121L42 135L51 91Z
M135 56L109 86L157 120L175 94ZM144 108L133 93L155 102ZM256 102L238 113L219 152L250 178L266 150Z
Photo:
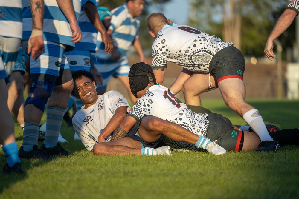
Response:
M25 122L23 131L23 149L31 151L34 145L37 145L39 124L34 122Z

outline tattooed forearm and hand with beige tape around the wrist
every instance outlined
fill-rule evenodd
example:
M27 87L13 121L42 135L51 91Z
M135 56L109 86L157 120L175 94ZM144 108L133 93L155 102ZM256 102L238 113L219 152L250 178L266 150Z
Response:
M42 38L42 27L44 21L45 6L43 0L30 0L30 10L32 14L32 33L28 40L27 53L31 53L31 59L37 59L45 52Z

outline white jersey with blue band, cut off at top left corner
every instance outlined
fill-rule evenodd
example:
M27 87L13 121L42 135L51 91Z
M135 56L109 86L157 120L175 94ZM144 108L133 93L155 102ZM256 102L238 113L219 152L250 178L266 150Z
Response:
M22 1L0 1L0 36L22 39Z

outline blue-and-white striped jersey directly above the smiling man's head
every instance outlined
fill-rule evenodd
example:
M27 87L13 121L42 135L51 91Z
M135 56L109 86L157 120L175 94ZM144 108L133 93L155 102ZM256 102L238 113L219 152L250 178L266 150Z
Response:
M81 13L79 17L79 27L82 32L82 39L80 42L75 44L75 50L89 50L95 52L97 44L97 29L89 21L86 13L83 10L83 5L87 1L93 3L96 7L99 6L99 0L81 0Z

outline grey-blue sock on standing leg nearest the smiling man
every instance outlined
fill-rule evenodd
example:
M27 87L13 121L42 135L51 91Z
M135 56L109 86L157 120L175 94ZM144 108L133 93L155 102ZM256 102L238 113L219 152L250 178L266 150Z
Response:
M64 113L65 109L63 108L47 107L47 125L44 144L48 149L57 145Z

